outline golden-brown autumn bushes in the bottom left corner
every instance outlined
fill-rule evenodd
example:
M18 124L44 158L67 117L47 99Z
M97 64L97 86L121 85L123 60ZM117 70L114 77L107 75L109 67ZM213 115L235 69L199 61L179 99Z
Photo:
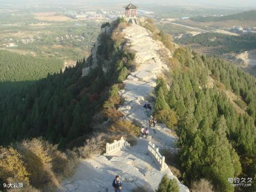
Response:
M0 179L25 182L26 191L52 189L73 173L78 163L72 151L62 153L57 145L34 138L0 149ZM31 185L31 187L29 187Z

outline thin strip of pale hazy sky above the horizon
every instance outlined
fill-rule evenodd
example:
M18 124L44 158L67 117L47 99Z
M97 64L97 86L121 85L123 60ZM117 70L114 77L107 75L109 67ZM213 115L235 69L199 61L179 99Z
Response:
M52 3L54 4L87 4L87 3L124 3L130 0L0 0L4 4L35 4L35 3ZM136 3L165 3L165 4L201 4L201 5L225 5L225 6L248 6L256 7L256 0L133 0ZM1 4L0 4L1 6Z

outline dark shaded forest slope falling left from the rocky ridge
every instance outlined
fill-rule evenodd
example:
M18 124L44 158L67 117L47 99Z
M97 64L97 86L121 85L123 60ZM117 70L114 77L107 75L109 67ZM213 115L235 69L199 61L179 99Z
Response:
M79 137L92 131L92 117L108 98L111 85L122 82L133 65L134 54L118 50L124 43L117 34L121 23L126 25L123 20L112 23L114 35L99 36L98 65L89 75L81 77L82 68L92 65L92 57L23 89L0 85L4 87L0 92L0 145L39 136L60 147L81 144ZM102 63L107 63L107 73Z

